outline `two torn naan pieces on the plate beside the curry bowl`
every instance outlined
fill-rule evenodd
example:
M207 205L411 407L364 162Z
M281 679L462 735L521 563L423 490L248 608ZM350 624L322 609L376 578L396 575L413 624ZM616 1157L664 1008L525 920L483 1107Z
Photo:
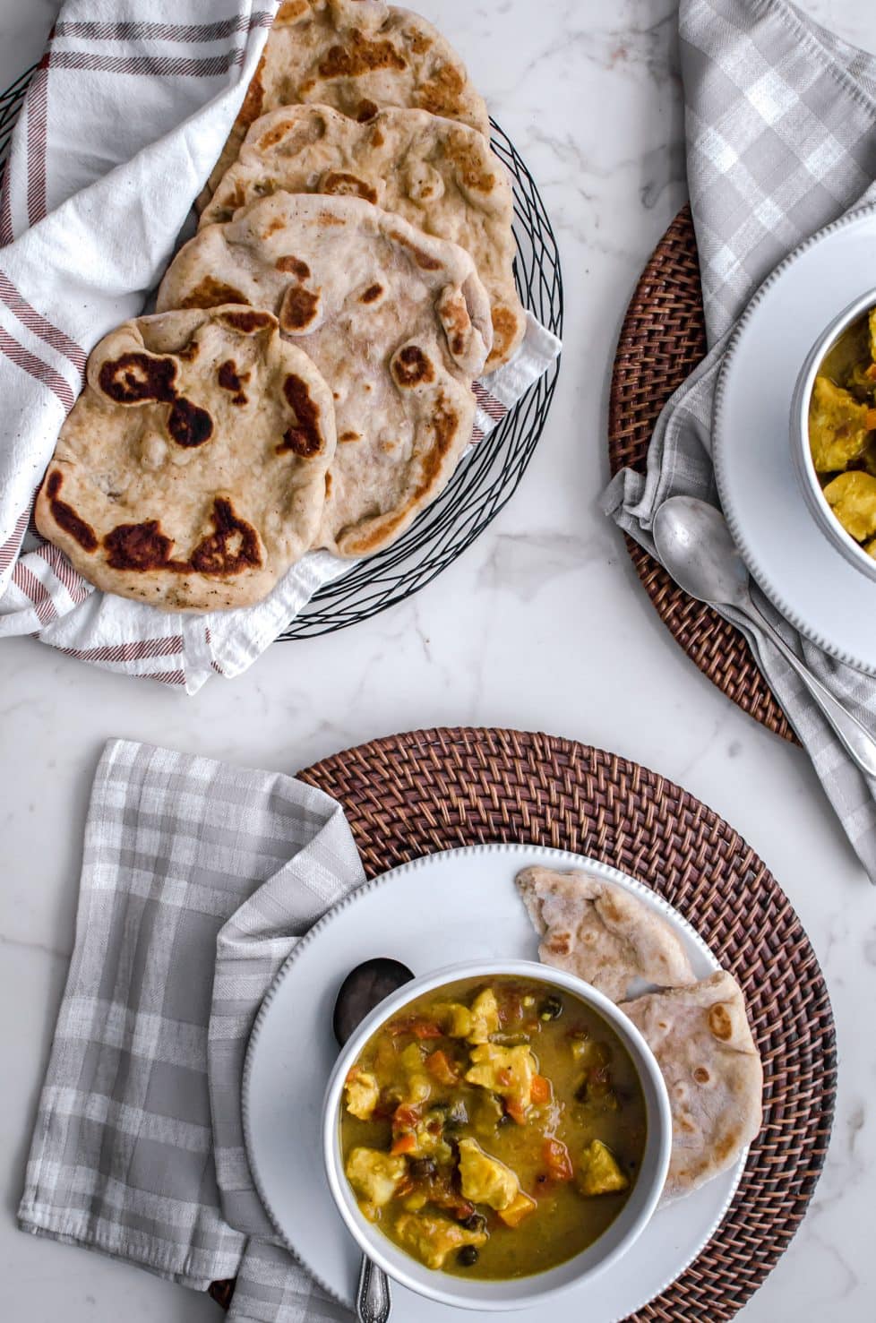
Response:
M633 1020L666 1080L672 1156L664 1197L732 1167L761 1129L764 1070L736 979L696 978L666 919L581 871L525 868L517 889L545 964L591 983ZM642 986L656 991L635 994Z

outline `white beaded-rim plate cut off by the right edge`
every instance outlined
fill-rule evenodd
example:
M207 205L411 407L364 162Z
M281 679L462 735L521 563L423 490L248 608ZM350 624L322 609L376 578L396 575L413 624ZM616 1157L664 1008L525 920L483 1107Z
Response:
M802 634L876 675L876 582L828 541L791 462L790 413L806 356L873 283L876 209L797 249L754 295L719 378L713 458L721 505L748 568Z

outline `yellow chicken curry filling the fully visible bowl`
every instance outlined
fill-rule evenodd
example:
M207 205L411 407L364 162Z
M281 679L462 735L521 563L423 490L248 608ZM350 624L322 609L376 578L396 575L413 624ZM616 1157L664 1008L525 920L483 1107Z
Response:
M646 1142L635 1066L578 998L464 980L412 1002L347 1077L341 1150L364 1215L431 1269L525 1277L586 1249Z

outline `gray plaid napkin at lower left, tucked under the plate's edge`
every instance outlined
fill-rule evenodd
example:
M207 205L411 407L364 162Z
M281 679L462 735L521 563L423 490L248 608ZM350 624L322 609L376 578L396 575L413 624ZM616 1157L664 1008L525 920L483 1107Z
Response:
M299 935L364 881L340 806L275 773L111 741L19 1209L24 1230L204 1290L234 1323L348 1312L274 1241L241 1127L243 1054Z

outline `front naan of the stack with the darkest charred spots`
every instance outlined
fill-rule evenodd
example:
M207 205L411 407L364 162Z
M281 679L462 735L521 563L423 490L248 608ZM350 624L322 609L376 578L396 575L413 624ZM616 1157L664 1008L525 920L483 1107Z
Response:
M107 593L249 606L311 545L333 452L331 390L270 314L138 318L89 359L37 528Z

